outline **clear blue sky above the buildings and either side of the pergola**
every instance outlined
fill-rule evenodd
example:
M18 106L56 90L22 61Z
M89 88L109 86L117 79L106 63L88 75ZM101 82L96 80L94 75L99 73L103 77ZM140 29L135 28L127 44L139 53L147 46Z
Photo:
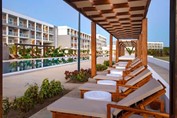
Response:
M169 46L169 6L169 0L151 0L147 14L149 42ZM2 7L56 26L78 29L78 12L63 0L3 0ZM84 16L81 31L91 33L91 21ZM97 26L97 33L105 36L109 44L107 31Z

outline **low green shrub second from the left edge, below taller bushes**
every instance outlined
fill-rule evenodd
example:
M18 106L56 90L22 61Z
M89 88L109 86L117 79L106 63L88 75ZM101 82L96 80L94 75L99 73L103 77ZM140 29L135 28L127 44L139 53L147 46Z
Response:
M34 102L31 98L22 96L14 100L13 107L22 112L28 112L34 107Z

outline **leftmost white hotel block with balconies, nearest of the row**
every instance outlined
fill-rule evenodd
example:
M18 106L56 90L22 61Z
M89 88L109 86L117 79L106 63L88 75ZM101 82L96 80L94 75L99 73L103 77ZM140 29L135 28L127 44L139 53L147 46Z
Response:
M54 46L57 27L37 19L2 9L3 43Z

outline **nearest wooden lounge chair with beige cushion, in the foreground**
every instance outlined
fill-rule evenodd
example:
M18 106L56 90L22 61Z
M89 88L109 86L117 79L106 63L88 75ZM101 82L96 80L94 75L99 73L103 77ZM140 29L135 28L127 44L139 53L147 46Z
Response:
M164 95L165 87L155 79L119 102L62 97L47 107L53 118L128 118L133 114L168 118L166 113L145 110L145 106ZM136 105L135 105L136 104Z

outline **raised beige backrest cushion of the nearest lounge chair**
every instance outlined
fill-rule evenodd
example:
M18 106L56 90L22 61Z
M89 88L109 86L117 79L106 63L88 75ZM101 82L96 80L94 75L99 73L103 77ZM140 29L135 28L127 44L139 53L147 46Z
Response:
M151 79L145 85L141 86L134 92L130 93L127 97L120 100L117 105L130 106L133 105L154 93L162 90L164 87L155 79ZM117 115L121 110L115 109L113 115Z

